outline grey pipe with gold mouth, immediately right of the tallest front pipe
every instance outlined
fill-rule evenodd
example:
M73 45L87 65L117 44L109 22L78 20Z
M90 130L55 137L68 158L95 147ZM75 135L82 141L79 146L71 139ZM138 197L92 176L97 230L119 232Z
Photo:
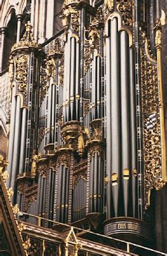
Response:
M129 68L126 31L120 32L120 97L121 97L121 137L122 137L122 177L124 186L124 208L127 216L127 200L130 170L130 127L129 127Z

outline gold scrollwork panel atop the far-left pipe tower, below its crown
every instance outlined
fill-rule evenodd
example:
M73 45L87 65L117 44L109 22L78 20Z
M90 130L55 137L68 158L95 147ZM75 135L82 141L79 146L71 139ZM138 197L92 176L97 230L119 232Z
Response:
M16 61L16 81L19 92L27 92L27 79L28 79L28 55L20 54Z

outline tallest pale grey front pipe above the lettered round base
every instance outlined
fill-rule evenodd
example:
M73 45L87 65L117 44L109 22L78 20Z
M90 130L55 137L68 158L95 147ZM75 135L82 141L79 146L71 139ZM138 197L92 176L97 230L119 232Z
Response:
M119 82L120 81L119 81L119 35L118 35L117 18L113 18L113 20L111 20L110 29L111 29L110 58L112 60L112 63L110 65L110 68L111 68L110 69L110 72L111 72L111 121L110 122L112 122L111 152L114 152L114 156L112 155L111 170L112 170L112 175L116 173L119 179L119 170L120 170L120 89L119 89L120 87L119 87ZM112 181L113 181L113 184L115 185L115 186L112 186L112 193L113 193L113 205L115 209L115 216L117 216L119 184L117 184L117 182L114 183L115 180L112 180Z

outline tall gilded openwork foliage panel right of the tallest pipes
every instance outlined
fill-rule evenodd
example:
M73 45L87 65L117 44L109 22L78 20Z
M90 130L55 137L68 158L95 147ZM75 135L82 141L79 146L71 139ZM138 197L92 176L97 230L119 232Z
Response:
M145 162L145 209L147 209L149 206L150 189L161 189L164 182L161 166L162 154L157 63L147 58L144 46L141 48L140 54L142 72L143 154Z

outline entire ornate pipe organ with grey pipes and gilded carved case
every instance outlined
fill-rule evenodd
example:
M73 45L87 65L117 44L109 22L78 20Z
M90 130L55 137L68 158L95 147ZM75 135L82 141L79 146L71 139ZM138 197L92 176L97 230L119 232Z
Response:
M145 4L64 0L61 33L38 45L27 23L13 45L8 186L22 211L152 238L150 195L166 181L162 26L157 4L146 28Z

